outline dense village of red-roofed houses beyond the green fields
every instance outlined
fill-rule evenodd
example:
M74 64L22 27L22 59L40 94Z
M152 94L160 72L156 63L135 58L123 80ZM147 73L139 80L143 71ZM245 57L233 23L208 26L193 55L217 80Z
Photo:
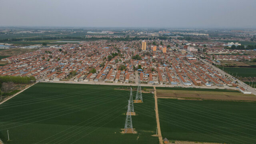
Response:
M46 81L113 83L134 83L139 76L144 84L236 86L226 76L202 64L193 55L173 50L175 45L170 41L164 41L164 45L170 45L166 52L154 50L154 46L140 50L141 41L98 40L51 46L3 59L10 64L1 66L0 74L34 76ZM133 59L136 54L141 59ZM75 75L67 79L72 72Z

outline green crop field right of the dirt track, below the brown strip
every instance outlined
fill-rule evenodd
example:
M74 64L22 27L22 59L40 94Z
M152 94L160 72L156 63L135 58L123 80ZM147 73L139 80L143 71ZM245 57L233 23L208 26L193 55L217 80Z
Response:
M158 98L163 138L256 144L256 103Z

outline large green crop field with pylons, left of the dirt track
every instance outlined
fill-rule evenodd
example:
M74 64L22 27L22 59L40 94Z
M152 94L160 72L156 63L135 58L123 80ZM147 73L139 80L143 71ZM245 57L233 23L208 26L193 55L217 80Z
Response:
M158 144L151 136L156 132L152 94L143 93L144 102L134 103L138 133L121 134L130 91L116 87L35 84L0 105L0 138L5 144Z

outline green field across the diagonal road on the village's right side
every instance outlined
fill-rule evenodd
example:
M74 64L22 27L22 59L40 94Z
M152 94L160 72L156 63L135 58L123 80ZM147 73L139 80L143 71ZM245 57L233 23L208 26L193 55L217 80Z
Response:
M222 70L223 67L220 67ZM233 76L242 76L242 77L255 77L256 68L238 68L238 67L224 67L224 71L228 74L233 74Z

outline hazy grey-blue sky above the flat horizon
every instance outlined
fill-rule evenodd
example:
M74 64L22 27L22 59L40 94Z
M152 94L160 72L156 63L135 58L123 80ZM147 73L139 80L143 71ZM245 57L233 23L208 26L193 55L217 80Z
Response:
M0 0L0 26L256 28L256 0Z

